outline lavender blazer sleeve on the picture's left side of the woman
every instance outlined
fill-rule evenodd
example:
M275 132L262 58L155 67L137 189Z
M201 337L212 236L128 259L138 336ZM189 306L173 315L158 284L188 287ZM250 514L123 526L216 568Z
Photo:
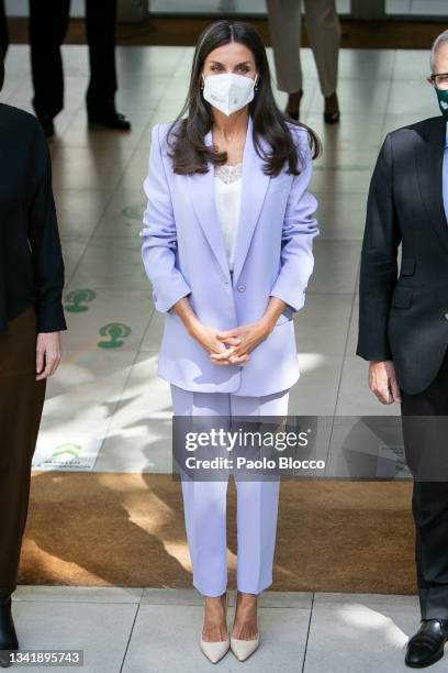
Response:
M160 124L156 124L152 131L149 169L143 184L147 206L139 235L143 263L153 285L154 305L158 311L165 312L191 290L176 266L176 222L161 157L159 129Z

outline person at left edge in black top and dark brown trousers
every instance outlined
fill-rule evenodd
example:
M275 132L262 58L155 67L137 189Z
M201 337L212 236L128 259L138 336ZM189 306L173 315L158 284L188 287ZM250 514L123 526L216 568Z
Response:
M0 89L4 66L0 54ZM11 614L46 379L60 361L64 260L47 142L0 103L0 663L19 648Z

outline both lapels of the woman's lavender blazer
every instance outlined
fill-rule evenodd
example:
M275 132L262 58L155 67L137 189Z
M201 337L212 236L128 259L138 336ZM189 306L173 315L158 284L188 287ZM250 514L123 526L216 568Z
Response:
M204 142L206 145L213 144L212 131L209 131L205 135ZM261 142L264 141L261 140ZM213 164L209 164L208 173L195 173L186 177L189 180L187 188L199 223L202 227L216 261L225 276L229 279L224 238L215 203ZM253 120L249 115L246 143L243 153L242 200L235 250L234 284L240 274L249 250L251 236L258 221L269 180L270 176L265 175L261 170L261 159L254 146Z

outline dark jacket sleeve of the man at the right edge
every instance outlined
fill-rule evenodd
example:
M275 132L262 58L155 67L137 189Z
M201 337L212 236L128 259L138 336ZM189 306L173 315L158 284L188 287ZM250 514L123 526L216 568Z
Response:
M397 276L400 228L393 199L392 140L381 147L367 201L359 277L359 332L357 355L391 360L388 317Z

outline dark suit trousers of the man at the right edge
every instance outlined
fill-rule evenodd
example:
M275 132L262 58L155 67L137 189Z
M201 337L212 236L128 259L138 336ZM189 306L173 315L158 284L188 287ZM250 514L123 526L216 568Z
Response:
M434 417L448 417L448 357L445 357L428 388L417 395L402 391L402 397L404 445L406 460L414 476L412 509L422 618L447 619L447 421L445 418ZM446 452L445 446L447 446ZM440 481L432 481L436 478Z

